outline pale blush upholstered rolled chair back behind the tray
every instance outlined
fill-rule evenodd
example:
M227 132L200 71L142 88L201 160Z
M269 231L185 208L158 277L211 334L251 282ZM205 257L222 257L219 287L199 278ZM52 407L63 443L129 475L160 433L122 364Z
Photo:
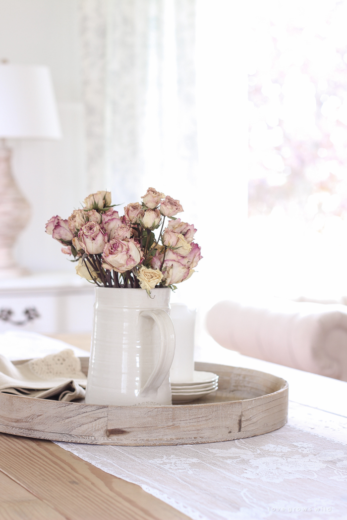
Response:
M240 354L347 381L347 307L271 298L224 301L207 315L213 339Z

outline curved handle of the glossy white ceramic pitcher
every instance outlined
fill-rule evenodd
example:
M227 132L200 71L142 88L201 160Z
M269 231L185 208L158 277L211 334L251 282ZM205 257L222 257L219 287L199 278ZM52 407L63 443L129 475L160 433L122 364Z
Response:
M157 365L139 393L141 396L146 396L151 392L157 392L171 368L175 354L175 329L172 319L162 309L143 310L140 316L152 318L160 332L160 352ZM165 348L165 345L168 347Z

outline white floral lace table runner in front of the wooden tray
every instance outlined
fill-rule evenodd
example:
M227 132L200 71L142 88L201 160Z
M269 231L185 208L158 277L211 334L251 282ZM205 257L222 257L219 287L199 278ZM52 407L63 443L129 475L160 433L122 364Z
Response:
M288 424L186 446L56 443L194 520L347 518L347 418L290 402Z

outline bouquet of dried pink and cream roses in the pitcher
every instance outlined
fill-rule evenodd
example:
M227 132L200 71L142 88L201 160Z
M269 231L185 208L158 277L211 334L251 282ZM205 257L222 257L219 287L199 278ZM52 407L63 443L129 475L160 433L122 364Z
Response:
M155 287L176 289L202 258L193 241L196 229L175 217L183 212L178 200L154 188L141 198L142 203L125 206L120 217L111 205L111 193L97 191L67 220L50 218L46 233L65 246L63 253L73 256L77 274L99 287L140 287L148 293Z

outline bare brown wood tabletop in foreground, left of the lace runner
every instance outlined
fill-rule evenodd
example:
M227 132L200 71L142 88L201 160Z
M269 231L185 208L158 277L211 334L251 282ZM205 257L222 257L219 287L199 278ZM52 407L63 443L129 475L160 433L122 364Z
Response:
M188 520L46 440L0 434L1 520Z

